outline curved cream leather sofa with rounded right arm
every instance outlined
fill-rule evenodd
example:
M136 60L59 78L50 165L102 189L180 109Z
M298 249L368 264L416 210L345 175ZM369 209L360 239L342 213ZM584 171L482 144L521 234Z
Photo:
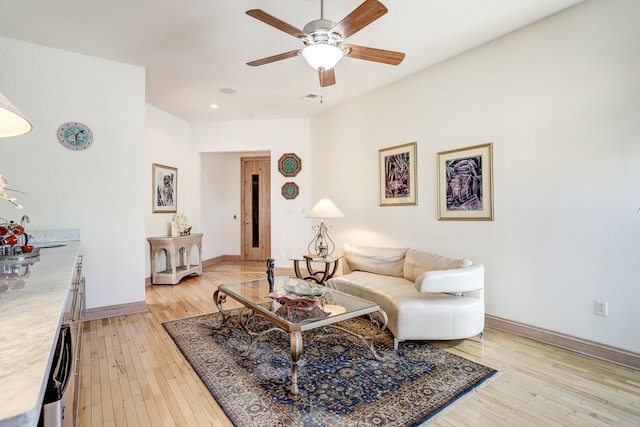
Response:
M484 267L413 248L345 244L342 275L327 286L375 301L395 347L405 340L454 340L484 330Z

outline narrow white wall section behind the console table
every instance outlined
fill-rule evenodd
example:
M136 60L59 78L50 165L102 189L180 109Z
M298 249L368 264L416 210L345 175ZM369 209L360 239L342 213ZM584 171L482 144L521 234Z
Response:
M167 236L169 224L175 213L153 213L152 182L153 164L178 169L177 210L184 213L191 222L192 192L191 156L189 154L189 124L153 105L146 106L147 119L144 136L144 219L145 236ZM192 223L192 222L191 222ZM192 232L201 230L193 228ZM149 243L145 241L145 277L151 275ZM192 256L197 256L196 251ZM164 256L158 256L157 270L165 268Z

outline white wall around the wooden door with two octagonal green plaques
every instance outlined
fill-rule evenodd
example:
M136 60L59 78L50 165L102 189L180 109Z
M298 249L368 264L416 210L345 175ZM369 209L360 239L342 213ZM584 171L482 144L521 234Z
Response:
M195 124L191 126L191 144L191 164L196 166L193 176L197 177L193 191L203 195L202 200L194 200L192 212L194 218L198 216L194 223L207 230L203 238L207 239L205 258L240 255L240 157L271 152L271 256L276 266L291 267L287 254L302 254L311 238L310 220L304 218L315 203L310 198L309 120ZM302 159L302 169L297 176L285 178L278 172L277 162L289 152ZM220 157L220 153L225 154ZM217 184L212 180L218 180ZM300 195L294 200L285 200L281 195L282 185L289 181L300 187ZM216 192L230 195L236 191L234 188L235 197L211 203ZM236 220L233 214L238 215Z

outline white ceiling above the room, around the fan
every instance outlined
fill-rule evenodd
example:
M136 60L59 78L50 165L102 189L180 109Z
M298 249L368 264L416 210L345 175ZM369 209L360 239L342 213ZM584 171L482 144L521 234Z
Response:
M362 1L326 0L325 18L340 21ZM389 12L348 42L405 52L405 60L394 67L344 58L337 83L322 90L302 57L246 65L302 43L245 11L262 9L302 29L320 17L320 0L0 0L0 35L144 66L147 102L191 123L300 117L581 1L382 0ZM307 94L322 94L324 102L301 101ZM213 103L220 108L209 108Z

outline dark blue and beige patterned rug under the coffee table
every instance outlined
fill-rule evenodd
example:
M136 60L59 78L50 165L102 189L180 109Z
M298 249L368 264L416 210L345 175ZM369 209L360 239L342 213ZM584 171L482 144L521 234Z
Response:
M232 311L233 312L233 311ZM429 344L376 340L384 361L357 337L324 328L304 332L298 397L291 386L289 336L263 335L248 356L249 335L235 317L220 328L219 313L164 323L164 327L236 426L418 426L495 378L497 371ZM258 328L270 328L256 317ZM339 324L363 335L364 318Z

